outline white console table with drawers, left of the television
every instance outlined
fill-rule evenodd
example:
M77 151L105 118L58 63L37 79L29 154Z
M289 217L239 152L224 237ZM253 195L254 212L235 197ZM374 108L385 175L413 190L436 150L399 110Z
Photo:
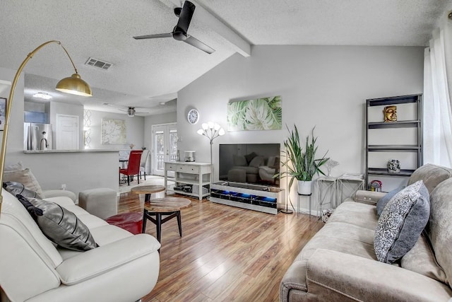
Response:
M212 177L212 165L210 163L197 162L165 162L165 188L168 190L168 172L174 171L174 187L183 185L191 186L191 192L184 192L183 190L170 190L179 194L186 194L189 196L198 197L199 200L203 197L209 196L210 178Z

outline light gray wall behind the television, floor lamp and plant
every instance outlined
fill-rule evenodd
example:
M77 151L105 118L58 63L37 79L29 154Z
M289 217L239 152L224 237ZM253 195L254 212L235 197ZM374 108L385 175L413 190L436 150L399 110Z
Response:
M283 129L227 132L215 139L215 171L218 144L283 143L285 125L297 124L302 136L316 127L319 153L328 150L340 163L333 176L364 173L366 99L422 93L423 52L423 47L255 46L251 57L235 54L179 91L179 149L196 150L196 161L208 162L208 139L196 134L201 123L211 120L226 129L230 100L281 95ZM191 108L201 115L196 125L186 121Z

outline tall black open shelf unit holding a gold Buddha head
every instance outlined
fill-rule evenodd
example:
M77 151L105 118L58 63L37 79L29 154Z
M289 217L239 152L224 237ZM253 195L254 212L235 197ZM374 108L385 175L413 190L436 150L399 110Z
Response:
M422 95L367 100L367 190L373 180L386 192L405 185L422 165Z

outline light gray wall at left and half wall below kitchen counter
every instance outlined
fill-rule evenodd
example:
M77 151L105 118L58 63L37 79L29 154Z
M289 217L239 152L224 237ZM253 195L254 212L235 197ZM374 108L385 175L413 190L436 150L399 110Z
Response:
M16 70L0 67L0 79L13 81ZM23 96L24 81L20 76L11 106L6 165L22 161L30 167L44 190L59 189L80 192L95 187L118 189L118 154L116 152L90 153L23 153ZM9 91L1 96L8 98ZM8 100L9 101L9 100ZM3 134L3 132L1 132Z

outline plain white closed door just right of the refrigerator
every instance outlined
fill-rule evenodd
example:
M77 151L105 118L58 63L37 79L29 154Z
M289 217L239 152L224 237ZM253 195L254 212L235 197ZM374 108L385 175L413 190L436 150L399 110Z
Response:
M57 115L56 149L79 149L79 123L78 115Z

